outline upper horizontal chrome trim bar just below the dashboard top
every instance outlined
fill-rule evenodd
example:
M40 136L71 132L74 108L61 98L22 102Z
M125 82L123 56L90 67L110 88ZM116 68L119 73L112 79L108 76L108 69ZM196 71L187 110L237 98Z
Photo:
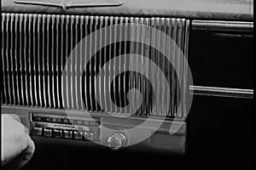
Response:
M224 20L193 20L192 30L230 30L253 31L253 22L224 21Z

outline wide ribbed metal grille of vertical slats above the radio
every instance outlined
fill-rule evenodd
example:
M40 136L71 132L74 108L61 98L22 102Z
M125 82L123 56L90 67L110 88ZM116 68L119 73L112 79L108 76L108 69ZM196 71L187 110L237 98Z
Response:
M84 40L90 33L106 26L111 26L108 32L101 30ZM171 37L177 47L156 30ZM137 108L136 116L184 116L188 68L183 54L188 56L189 20L3 13L2 37L2 96L5 105L125 115L131 115ZM131 41L122 41L128 37ZM113 43L102 47L109 42ZM145 42L151 43L152 47ZM80 44L78 51L73 51L77 44ZM102 48L96 51L97 47ZM154 47L165 51L166 56ZM87 65L79 65L92 54L95 55ZM132 54L143 58L131 57ZM117 59L119 55L124 59ZM71 65L66 66L68 57ZM172 64L165 57L171 59ZM109 66L105 65L107 62ZM125 72L111 81L111 76L121 70ZM62 75L62 71L65 74ZM157 76L160 71L166 79ZM102 74L96 83L100 72ZM180 82L177 75L182 75ZM153 84L146 77L155 78ZM170 89L162 83L165 80ZM131 89L137 89L141 95L128 96ZM140 96L141 105L138 102ZM110 101L115 105L110 105ZM168 103L170 107L167 108ZM177 112L179 104L182 110ZM130 106L125 111L119 109L127 105Z

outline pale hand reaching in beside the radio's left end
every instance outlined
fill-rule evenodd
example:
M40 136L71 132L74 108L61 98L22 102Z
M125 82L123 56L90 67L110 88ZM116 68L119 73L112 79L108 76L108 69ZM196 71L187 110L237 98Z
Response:
M19 116L2 114L1 118L1 167L20 169L32 158L35 145Z

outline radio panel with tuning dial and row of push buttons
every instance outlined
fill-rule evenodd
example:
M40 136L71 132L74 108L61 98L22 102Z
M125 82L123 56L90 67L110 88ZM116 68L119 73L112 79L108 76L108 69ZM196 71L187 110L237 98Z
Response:
M31 113L31 134L55 139L100 141L99 118Z

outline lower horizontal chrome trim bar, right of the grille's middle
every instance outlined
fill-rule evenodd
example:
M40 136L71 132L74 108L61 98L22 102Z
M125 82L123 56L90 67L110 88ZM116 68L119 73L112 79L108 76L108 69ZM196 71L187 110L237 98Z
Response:
M253 99L253 89L189 86L190 94Z

